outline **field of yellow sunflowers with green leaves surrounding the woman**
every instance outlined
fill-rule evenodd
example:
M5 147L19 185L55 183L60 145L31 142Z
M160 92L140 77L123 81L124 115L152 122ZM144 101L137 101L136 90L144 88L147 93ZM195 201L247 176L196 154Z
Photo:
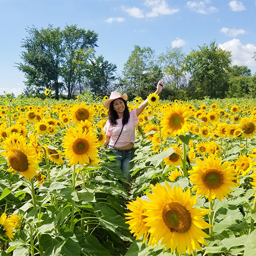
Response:
M254 100L151 94L127 184L107 97L46 95L1 98L0 256L256 254Z

